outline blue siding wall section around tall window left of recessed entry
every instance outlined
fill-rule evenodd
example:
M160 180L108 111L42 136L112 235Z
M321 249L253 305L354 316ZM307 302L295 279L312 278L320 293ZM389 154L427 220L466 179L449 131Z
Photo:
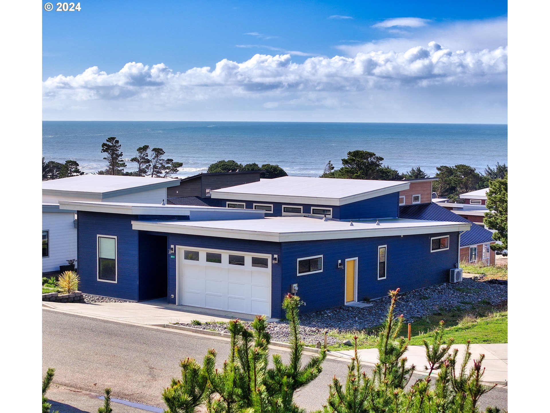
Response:
M139 300L138 231L132 215L78 213L79 289L87 294ZM97 280L97 235L117 237L117 283Z

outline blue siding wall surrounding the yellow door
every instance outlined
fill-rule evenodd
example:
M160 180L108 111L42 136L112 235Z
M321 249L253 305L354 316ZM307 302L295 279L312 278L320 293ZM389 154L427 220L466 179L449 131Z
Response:
M450 248L430 252L431 237L449 235ZM387 245L387 277L377 279L378 246ZM321 273L297 275L298 258L323 255ZM282 300L290 285L298 283L298 295L306 303L302 312L344 305L345 269L338 260L357 257L357 300L386 296L398 287L402 292L448 282L449 269L458 260L458 232L356 238L354 240L301 241L283 244Z

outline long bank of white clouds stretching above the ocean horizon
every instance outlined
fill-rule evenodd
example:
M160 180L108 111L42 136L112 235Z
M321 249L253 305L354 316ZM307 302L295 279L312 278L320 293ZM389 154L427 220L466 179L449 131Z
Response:
M455 52L432 41L303 63L256 54L185 72L131 62L48 78L43 107L57 119L482 122L485 102L486 121L502 122L507 59L507 47Z

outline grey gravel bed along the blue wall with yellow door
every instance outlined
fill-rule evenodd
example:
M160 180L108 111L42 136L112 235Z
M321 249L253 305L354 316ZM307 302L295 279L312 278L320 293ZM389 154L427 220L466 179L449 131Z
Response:
M406 292L399 297L395 308L397 314L403 314L406 323L415 318L436 314L445 309L470 309L475 303L485 301L491 305L498 305L508 300L508 286L464 279L458 284L441 284L422 290ZM381 324L386 318L389 306L389 297L371 301L372 306L337 307L300 316L300 336L305 343L315 345L317 341L323 343L324 330L370 330ZM307 304L307 303L306 303ZM250 323L245 323L250 324ZM229 333L225 324L204 323L202 325L181 324L204 330ZM288 343L288 323L268 323L267 331L272 341ZM329 345L339 344L341 340L328 336Z

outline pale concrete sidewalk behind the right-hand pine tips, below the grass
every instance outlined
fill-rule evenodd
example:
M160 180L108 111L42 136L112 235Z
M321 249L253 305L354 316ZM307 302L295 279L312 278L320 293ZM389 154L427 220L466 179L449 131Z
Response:
M460 365L464 360L466 345L455 344L449 352L452 352L453 349L458 349L457 364ZM508 385L508 344L471 344L470 352L472 357L467 364L467 371L474 365L474 359L477 360L480 354L485 354L482 364L482 367L485 367L483 382L498 384L499 387ZM378 362L378 349L357 350L357 353L362 364L373 366ZM329 351L329 355L349 360L354 356L354 351ZM424 366L427 366L428 363L424 346L409 346L405 357L407 366L415 365L416 373L426 374ZM432 374L437 374L437 371Z

